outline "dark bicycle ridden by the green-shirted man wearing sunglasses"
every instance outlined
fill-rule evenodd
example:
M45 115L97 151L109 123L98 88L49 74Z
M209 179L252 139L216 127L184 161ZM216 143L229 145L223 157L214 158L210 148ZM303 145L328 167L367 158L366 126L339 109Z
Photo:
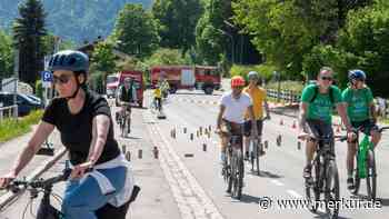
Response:
M340 200L339 195L339 173L335 159L335 149L331 147L331 137L309 137L317 142L316 156L312 162L312 176L306 179L306 198L312 203L310 210L316 212L319 207L320 196L323 193L326 202L326 212L329 218L338 218ZM333 137L340 141L347 140L347 137ZM329 203L333 208L329 208Z

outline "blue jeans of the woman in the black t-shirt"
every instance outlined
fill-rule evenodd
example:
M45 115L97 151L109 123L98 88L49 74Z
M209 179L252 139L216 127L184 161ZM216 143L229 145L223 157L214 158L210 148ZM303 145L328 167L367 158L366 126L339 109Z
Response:
M82 183L79 180L68 181L62 202L64 219L97 219L94 211L103 207L124 187L126 167L98 171L110 180L116 188L116 192L107 196L102 195L98 182L90 176Z

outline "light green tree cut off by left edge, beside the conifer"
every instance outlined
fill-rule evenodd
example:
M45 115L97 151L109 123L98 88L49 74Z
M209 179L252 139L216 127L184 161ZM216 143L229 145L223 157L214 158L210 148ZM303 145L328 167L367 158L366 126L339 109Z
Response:
M10 36L0 30L0 82L13 74L13 51Z

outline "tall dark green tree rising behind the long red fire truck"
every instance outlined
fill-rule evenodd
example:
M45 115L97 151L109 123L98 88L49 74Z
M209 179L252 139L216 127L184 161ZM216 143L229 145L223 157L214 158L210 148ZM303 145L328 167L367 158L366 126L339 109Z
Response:
M200 0L156 0L152 14L159 23L160 46L186 53L196 44L194 29L201 13Z

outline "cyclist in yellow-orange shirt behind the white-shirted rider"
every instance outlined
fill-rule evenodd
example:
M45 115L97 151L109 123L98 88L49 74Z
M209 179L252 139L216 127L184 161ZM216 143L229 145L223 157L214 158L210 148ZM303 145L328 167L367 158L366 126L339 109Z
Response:
M266 111L266 119L270 119L269 113L269 106L266 100L266 90L261 87L259 87L259 73L256 71L250 71L248 73L249 79L249 86L243 89L243 92L248 93L251 97L252 100L252 109L253 109L253 116L256 119L257 130L258 130L258 137L261 138L262 136L262 127L263 127L263 107ZM251 131L251 121L249 119L249 113L246 113L245 117L245 146L246 146L246 152L245 152L245 159L249 159L249 148L250 148L250 131ZM260 141L259 141L260 142ZM265 155L263 149L261 149L260 155Z

